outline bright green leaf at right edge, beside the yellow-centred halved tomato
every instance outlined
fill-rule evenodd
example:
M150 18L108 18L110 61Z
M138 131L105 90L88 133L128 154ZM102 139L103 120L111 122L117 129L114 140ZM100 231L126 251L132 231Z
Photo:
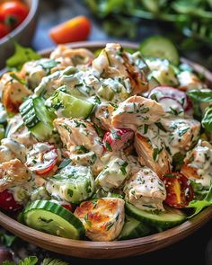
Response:
M212 205L212 184L210 185L210 189L208 190L208 193L204 199L202 200L195 199L190 201L190 204L188 205L187 208L194 208L194 213L188 218L196 216L203 208L207 208L211 205Z

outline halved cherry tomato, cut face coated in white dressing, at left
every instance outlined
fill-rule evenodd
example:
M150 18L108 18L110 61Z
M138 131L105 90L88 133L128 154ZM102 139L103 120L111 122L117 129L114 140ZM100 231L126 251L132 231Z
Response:
M30 151L26 165L32 172L38 175L44 175L55 167L57 159L58 155L55 146L49 143L38 143L35 144Z

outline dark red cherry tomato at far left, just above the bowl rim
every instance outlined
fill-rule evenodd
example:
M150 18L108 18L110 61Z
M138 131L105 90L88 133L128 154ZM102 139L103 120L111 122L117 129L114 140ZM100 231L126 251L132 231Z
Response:
M4 190L0 192L0 208L13 212L22 209L22 205L15 201L10 190Z

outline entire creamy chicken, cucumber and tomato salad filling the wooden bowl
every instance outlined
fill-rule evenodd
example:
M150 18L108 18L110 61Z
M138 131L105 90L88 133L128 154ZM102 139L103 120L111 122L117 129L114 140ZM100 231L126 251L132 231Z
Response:
M0 208L22 224L125 240L212 204L212 93L169 40L59 45L0 90Z

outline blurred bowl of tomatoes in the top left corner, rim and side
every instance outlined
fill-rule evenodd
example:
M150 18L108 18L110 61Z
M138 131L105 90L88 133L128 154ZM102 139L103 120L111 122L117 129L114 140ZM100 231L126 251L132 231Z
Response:
M22 46L30 46L33 38L39 11L39 0L24 0L29 6L30 12L26 19L4 38L0 39L0 69L5 66L5 61L13 55L13 40L16 40Z

